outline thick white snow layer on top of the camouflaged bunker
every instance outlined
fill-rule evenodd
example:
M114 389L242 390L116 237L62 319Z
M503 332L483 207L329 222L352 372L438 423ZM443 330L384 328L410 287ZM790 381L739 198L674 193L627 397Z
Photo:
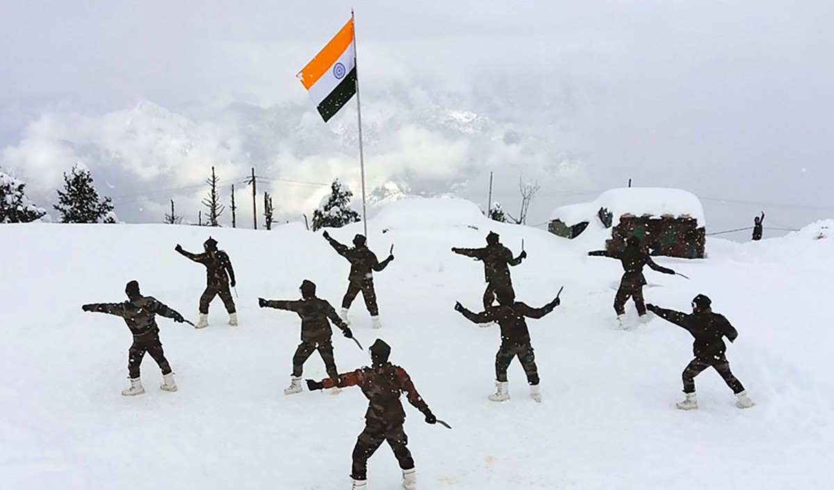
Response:
M614 214L614 226L620 223L624 214L635 216L672 216L694 218L698 227L705 227L704 208L695 194L672 188L618 188L601 193L590 203L570 204L555 208L550 221L559 220L566 225L590 222L600 208Z

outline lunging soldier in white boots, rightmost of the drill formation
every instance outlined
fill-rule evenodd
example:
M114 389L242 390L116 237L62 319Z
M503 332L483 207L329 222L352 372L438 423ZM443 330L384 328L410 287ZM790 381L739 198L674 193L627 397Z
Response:
M734 342L738 337L736 328L723 315L713 313L711 300L703 294L699 294L692 300L692 313L681 313L675 310L656 307L653 304L646 305L649 311L667 322L686 328L695 338L692 344L692 351L695 358L686 366L683 372L683 393L686 399L677 403L681 410L692 410L698 408L698 400L695 396L695 377L706 368L714 368L724 383L730 387L732 393L736 393L736 407L751 408L755 403L747 396L741 382L736 379L730 371L730 363L727 361L724 337Z

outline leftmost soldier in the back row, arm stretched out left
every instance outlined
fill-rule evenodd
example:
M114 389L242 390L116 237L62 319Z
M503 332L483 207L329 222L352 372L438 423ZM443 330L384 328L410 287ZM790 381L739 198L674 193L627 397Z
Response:
M229 312L229 325L235 327L238 325L238 313L235 313L234 299L229 287L234 288L234 269L232 268L232 261L229 260L229 255L223 250L218 250L217 240L208 237L208 240L203 243L203 253L190 253L183 250L177 244L174 248L178 253L190 258L196 263L201 263L206 268L206 289L203 295L200 296L200 318L197 322L197 328L208 327L208 303L214 300L215 296L220 296L226 311Z

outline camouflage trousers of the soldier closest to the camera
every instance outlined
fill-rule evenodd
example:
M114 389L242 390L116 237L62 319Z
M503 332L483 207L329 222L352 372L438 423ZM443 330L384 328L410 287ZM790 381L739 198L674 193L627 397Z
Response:
M408 436L403 430L403 423L385 423L379 419L365 421L365 428L354 446L354 464L350 472L350 478L354 480L365 480L368 478L368 459L379 449L382 442L386 441L391 450L394 451L394 458L397 458L399 468L414 468L414 458L407 447Z

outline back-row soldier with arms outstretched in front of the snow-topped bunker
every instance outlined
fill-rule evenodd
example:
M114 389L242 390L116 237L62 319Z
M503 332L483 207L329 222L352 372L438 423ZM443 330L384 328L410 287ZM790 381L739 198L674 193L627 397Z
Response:
M643 275L643 268L649 266L659 273L674 274L670 268L659 266L651 259L646 250L641 247L640 238L629 237L625 242L625 249L620 252L609 252L607 250L595 250L589 252L591 257L615 258L622 263L623 278L620 280L620 288L614 297L614 310L617 313L617 320L622 322L625 315L625 302L628 298L634 300L637 313L642 317L646 314L646 301L643 299L643 286L646 286L646 277Z

